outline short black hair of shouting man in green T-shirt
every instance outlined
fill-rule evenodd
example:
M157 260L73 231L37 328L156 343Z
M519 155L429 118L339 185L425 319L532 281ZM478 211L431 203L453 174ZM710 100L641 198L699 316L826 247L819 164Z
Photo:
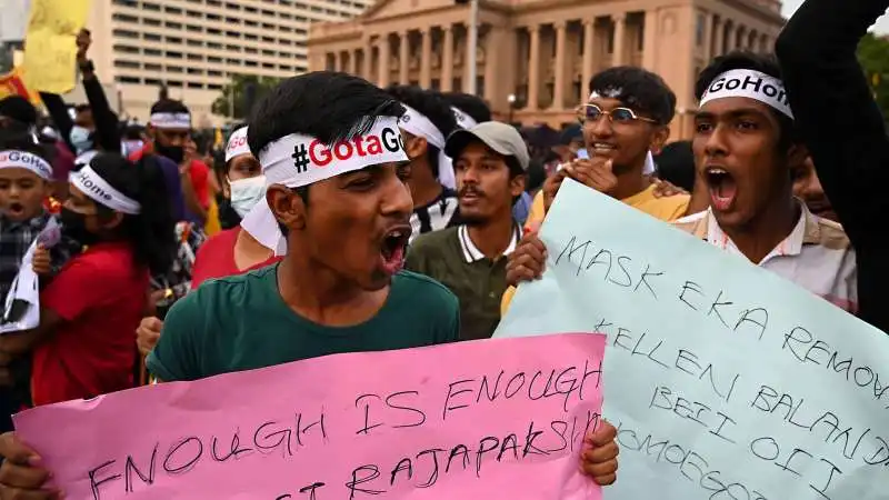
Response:
M254 157L291 133L311 136L332 146L367 133L377 117L400 118L404 107L363 78L314 71L283 80L257 104L247 142ZM308 191L297 190L304 201Z

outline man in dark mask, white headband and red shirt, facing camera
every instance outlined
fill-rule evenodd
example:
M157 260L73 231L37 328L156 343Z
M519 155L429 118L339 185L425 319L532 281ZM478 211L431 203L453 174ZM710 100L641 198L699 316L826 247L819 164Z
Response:
M197 146L191 139L191 113L182 102L162 99L151 107L147 131L151 141L130 154L130 160L137 161L153 152L172 161L178 167L178 178L169 178L169 168L164 168L168 183L176 184L171 192L181 192L184 216L203 227L210 208L210 168L198 159Z

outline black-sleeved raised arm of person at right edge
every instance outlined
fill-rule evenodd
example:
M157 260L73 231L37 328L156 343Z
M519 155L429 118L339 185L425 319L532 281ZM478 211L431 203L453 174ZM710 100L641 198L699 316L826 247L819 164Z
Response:
M887 240L889 182L886 117L857 58L859 41L889 0L807 0L776 50L787 94L818 178L856 250L859 317L889 332Z

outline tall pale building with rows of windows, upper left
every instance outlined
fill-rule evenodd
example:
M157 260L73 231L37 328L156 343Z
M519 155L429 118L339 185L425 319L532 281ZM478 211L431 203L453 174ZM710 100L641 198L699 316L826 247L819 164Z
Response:
M87 27L99 78L124 117L146 122L162 84L196 127L224 117L212 102L232 74L292 77L308 69L309 23L350 19L371 0L93 0Z

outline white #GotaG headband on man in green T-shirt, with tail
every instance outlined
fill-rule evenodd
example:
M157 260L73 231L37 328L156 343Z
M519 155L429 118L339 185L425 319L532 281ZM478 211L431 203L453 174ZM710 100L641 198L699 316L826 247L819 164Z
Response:
M408 161L398 120L379 117L369 132L328 147L310 136L290 134L267 146L259 153L266 186L300 188L342 173L391 162ZM287 253L281 234L267 202L257 203L241 220L241 227L276 256Z

